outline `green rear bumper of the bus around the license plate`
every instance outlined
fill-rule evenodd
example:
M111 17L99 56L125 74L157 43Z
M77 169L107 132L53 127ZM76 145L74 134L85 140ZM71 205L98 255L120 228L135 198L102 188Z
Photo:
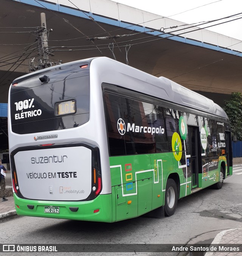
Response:
M56 219L112 222L112 195L99 195L96 199L84 202L40 201L19 198L14 193L16 212L20 216L45 217ZM17 207L17 205L19 207ZM33 206L29 209L28 205ZM60 213L45 213L44 206L59 206ZM76 212L70 207L78 207ZM94 210L99 209L97 213Z

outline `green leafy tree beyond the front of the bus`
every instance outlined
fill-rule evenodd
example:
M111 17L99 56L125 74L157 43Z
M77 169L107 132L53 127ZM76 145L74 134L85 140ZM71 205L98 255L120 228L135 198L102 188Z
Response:
M234 129L237 140L242 141L242 94L232 92L230 99L225 101L223 108L230 119L231 128Z

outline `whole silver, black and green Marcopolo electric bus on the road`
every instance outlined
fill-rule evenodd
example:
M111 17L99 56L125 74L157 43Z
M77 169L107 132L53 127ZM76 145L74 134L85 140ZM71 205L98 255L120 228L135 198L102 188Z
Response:
M17 214L115 222L232 175L231 129L208 98L106 57L27 74L9 89Z

